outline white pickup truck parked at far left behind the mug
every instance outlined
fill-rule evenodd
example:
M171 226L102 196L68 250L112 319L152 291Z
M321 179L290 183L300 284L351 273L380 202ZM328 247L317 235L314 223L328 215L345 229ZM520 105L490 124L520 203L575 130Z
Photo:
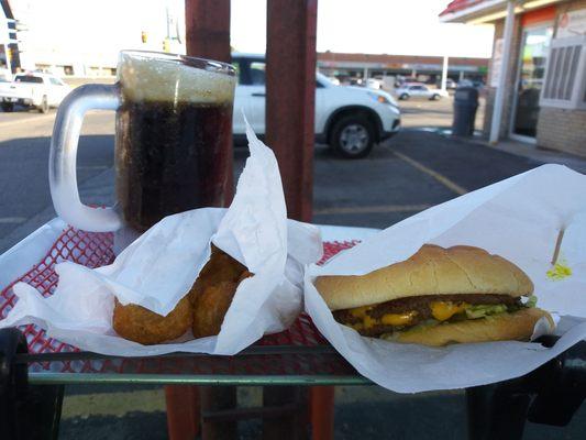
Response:
M14 105L35 108L42 113L58 107L71 91L63 80L49 74L18 74L12 82L0 84L0 107L12 111Z

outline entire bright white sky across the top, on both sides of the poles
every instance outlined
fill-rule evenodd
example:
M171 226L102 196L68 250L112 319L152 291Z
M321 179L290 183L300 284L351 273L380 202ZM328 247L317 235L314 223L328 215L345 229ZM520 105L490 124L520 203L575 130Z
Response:
M266 0L231 0L231 44L264 53ZM185 33L185 0L10 0L29 31L21 61L115 66L124 48L162 51L166 11ZM440 23L449 0L318 0L317 48L395 55L489 57L491 26ZM142 43L141 33L148 34ZM173 52L184 52L177 44ZM25 64L25 63L24 63ZM26 67L29 68L29 67Z

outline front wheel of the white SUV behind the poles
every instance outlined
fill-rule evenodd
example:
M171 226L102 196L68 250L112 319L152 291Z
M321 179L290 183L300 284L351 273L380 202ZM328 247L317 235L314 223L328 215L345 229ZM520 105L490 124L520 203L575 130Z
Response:
M365 157L375 143L375 130L371 121L362 116L349 116L332 127L331 146L346 158Z

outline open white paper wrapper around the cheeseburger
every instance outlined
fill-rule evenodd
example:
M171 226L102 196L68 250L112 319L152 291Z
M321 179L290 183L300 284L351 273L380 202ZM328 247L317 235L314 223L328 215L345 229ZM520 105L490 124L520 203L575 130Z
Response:
M397 223L306 273L306 309L318 329L364 376L400 393L463 388L526 374L586 337L586 176L544 165ZM549 277L561 229L561 256L572 275ZM312 282L363 275L408 258L424 243L468 244L499 254L533 280L538 306L563 317L552 349L491 342L425 348L363 338L334 321ZM543 332L543 322L537 326Z

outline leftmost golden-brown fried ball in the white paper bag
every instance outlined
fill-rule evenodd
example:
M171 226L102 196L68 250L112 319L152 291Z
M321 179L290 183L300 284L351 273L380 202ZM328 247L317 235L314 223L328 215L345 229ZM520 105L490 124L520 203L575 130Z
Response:
M166 317L134 304L123 306L117 299L112 324L122 338L151 345L179 338L191 326L191 319L187 295Z

